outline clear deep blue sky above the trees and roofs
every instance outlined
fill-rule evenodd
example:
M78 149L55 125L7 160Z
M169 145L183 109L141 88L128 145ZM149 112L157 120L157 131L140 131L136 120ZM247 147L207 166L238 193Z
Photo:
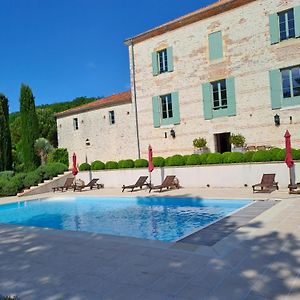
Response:
M19 110L130 89L124 40L217 0L1 0L0 92Z

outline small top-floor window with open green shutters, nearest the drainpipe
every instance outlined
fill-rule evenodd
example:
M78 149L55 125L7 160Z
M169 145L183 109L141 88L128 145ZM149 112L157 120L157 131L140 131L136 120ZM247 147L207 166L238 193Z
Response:
M152 53L152 73L157 76L173 71L173 48L169 47Z

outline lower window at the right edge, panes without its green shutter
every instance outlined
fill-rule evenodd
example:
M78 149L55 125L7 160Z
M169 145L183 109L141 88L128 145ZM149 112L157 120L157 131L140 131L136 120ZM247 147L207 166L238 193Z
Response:
M300 67L281 70L283 98L300 96Z

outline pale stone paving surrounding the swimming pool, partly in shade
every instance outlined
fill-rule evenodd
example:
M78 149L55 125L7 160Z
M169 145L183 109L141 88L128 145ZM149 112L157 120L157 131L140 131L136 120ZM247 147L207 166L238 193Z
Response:
M105 188L84 195L149 194ZM287 189L252 194L250 188L150 195L277 204L211 246L0 225L0 294L21 300L300 299L300 195Z

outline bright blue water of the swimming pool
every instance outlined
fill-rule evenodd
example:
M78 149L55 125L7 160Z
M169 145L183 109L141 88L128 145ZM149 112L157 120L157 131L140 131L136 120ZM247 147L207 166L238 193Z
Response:
M48 198L0 205L0 223L174 241L246 206L198 198Z

